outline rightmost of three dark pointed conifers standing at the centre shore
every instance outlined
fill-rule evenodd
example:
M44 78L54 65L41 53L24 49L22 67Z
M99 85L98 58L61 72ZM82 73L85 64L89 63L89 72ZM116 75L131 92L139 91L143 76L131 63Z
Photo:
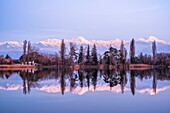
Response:
M96 45L93 45L92 52L91 52L91 59L92 59L92 64L97 65L98 64L98 58L97 58L97 49Z

